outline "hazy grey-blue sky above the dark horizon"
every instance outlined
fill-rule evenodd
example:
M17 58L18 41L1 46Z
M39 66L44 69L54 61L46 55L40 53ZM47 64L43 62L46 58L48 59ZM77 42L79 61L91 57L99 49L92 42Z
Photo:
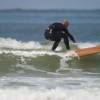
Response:
M0 0L0 9L99 9L100 0Z

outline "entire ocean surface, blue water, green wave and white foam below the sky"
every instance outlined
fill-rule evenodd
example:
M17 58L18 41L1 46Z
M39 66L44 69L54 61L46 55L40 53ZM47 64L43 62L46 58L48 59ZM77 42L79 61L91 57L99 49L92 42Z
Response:
M100 10L0 11L0 100L100 100L100 54L65 57L63 40L52 52L44 38L64 19L71 49L100 45Z

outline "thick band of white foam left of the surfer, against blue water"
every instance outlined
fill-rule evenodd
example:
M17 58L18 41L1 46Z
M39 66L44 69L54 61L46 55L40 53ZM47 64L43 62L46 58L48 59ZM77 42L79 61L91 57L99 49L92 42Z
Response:
M40 49L42 46L39 42L29 41L22 42L12 38L0 38L0 48L11 49Z

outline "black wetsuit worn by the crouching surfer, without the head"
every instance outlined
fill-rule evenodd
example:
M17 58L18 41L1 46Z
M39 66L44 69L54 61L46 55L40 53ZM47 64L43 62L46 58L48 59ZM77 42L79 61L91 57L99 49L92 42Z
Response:
M57 48L62 38L64 39L64 43L67 49L70 49L68 38L75 42L74 37L68 32L62 23L51 24L48 28L48 31L50 32L49 40L55 41L52 47L53 51Z

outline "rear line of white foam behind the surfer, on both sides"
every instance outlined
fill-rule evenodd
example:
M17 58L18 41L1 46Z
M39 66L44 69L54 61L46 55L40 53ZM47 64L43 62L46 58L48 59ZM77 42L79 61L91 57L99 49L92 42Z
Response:
M86 47L93 47L96 45L99 45L99 42L79 42L74 45L77 45L79 48L86 48ZM47 44L50 46L50 44ZM36 41L29 41L29 42L22 42L17 41L13 38L2 38L0 37L0 48L9 48L9 49L50 49L49 46L42 45L39 42ZM47 47L46 47L47 46ZM61 50L61 48L59 48Z

